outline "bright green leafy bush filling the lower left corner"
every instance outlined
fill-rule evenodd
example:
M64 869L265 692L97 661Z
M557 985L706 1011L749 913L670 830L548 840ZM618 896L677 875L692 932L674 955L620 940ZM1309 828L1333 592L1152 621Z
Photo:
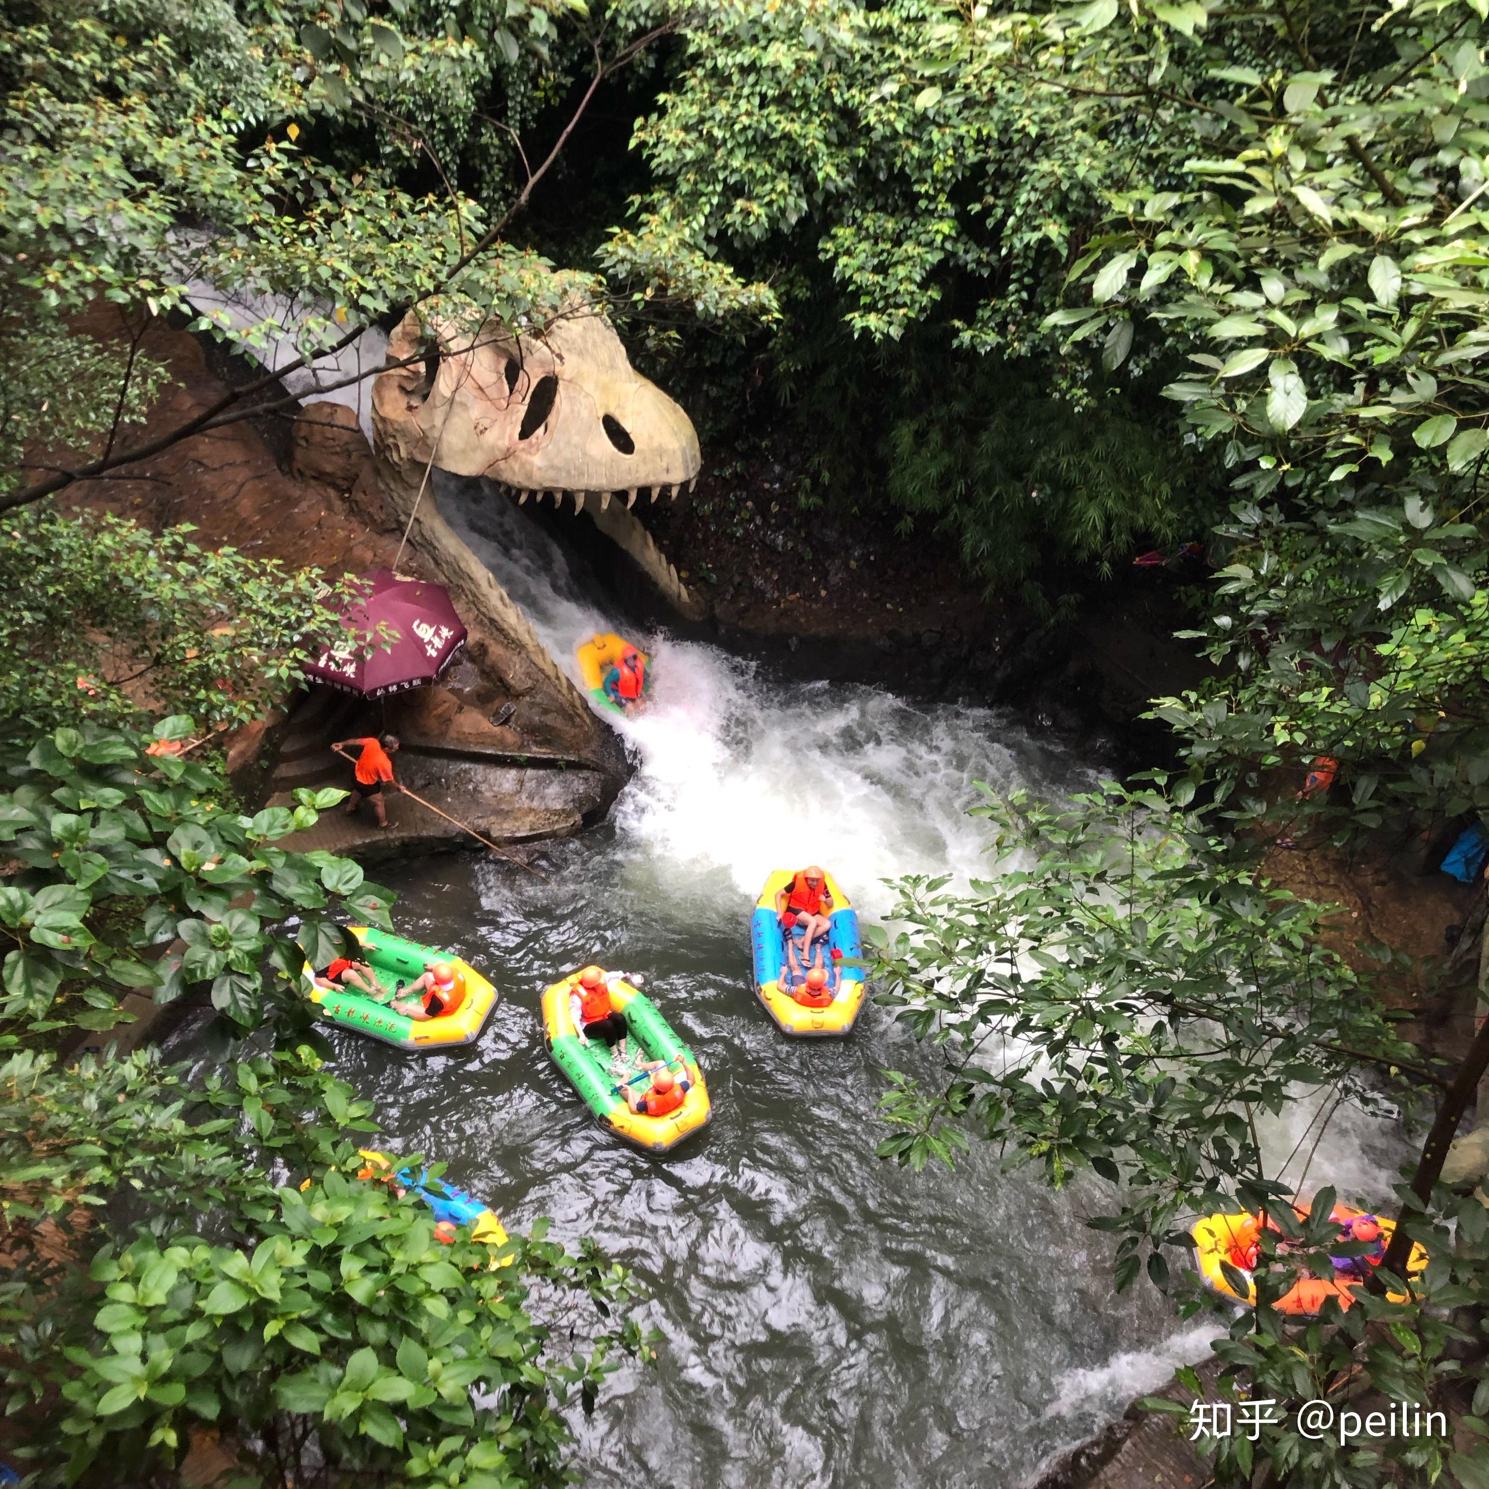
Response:
M371 1105L304 1048L200 1085L16 1054L0 1109L0 1348L37 1483L179 1483L211 1428L283 1489L557 1486L561 1407L649 1355L591 1243L444 1245L417 1199L350 1178Z

